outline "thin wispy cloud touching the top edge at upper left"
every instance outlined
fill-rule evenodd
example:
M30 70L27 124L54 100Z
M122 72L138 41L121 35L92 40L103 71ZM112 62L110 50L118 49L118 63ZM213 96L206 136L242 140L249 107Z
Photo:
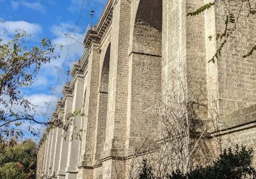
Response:
M11 1L11 6L13 10L17 10L20 6L24 6L31 10L36 10L42 13L45 13L45 7L42 6L39 2L30 3L28 1Z

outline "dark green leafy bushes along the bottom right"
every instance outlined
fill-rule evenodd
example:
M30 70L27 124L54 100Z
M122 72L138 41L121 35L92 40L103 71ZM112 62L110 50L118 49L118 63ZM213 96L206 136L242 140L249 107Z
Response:
M171 172L166 176L168 179L242 179L256 178L256 170L252 167L253 150L245 146L237 145L234 150L228 148L223 150L220 157L213 164L203 167L197 166L193 171L183 174L179 170ZM140 179L152 177L151 169L147 163L143 164Z

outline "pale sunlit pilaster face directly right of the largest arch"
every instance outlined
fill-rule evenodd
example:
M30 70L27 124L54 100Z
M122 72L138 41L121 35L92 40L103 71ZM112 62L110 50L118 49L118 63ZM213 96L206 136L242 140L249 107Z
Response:
M172 72L186 66L186 1L163 1L162 91L169 90Z

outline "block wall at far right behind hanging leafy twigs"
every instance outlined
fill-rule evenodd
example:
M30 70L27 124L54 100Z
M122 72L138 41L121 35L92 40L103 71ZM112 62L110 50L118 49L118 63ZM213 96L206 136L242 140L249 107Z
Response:
M255 2L252 1L251 3L255 4ZM234 11L234 8L237 8L237 6L235 6L234 2L231 4L232 6L228 6L230 13L234 13L237 17L238 11ZM221 2L217 2L213 10L214 13L210 16L211 19L208 19L211 20L209 23L212 23L214 20L216 34L223 33L225 29L224 19L227 17L225 6ZM248 7L245 3L239 15L239 26L235 30L236 35L231 35L221 51L220 59L216 61L216 68L218 68L218 76L216 76L218 78L218 102L221 114L242 109L256 102L256 78L254 73L256 56L253 54L253 56L248 58L242 57L256 43L256 18L253 16L248 18L247 15ZM218 40L214 49L218 49L220 43L221 41ZM214 55L210 54L211 56Z

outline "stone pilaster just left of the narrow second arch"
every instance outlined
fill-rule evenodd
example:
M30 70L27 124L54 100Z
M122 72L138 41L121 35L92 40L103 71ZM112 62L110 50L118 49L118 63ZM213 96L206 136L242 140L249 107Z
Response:
M97 118L97 91L99 90L99 44L93 42L88 58L86 74L86 98L84 104L84 133L78 178L92 178L93 146L95 144L95 125Z

